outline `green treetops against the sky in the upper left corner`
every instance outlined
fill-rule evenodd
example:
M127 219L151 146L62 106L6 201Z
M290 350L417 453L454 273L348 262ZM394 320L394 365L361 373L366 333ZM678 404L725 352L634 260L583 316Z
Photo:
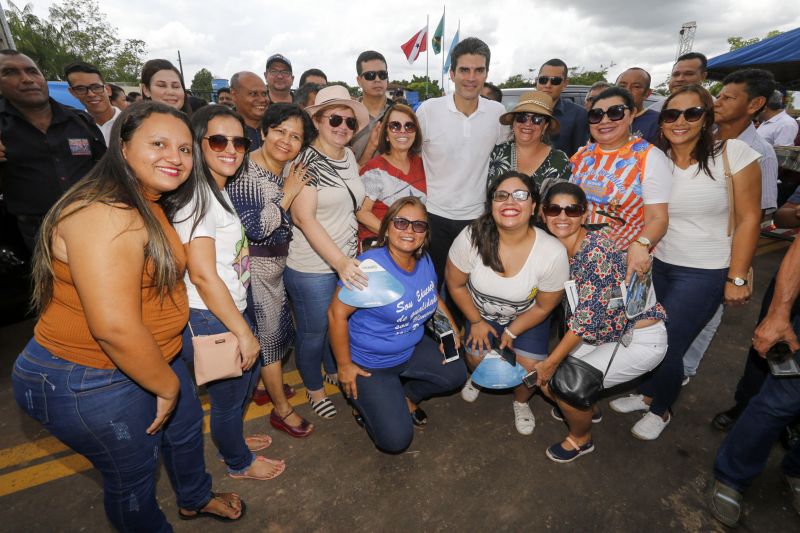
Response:
M17 49L33 59L49 80L60 80L71 61L92 63L107 81L136 82L145 43L120 39L100 10L97 0L62 0L49 17L33 14L33 6L19 9L8 3L6 18Z

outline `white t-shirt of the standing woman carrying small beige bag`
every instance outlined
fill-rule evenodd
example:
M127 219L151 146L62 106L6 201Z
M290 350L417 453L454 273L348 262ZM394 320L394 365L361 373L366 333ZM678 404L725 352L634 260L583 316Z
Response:
M229 206L233 205L228 193L225 190L220 192L225 198L225 202ZM175 231L184 244L200 237L214 239L217 274L228 287L236 308L244 311L247 308L247 286L250 284L250 253L244 226L239 217L234 214L235 212L226 211L210 192L206 191L201 194L209 196L208 211L205 217L198 222L194 233L192 233L192 225L194 224L193 213L197 205L196 198L175 215L177 221L174 224ZM185 282L186 290L189 293L189 307L208 309L197 292L197 287L189 279L188 270Z

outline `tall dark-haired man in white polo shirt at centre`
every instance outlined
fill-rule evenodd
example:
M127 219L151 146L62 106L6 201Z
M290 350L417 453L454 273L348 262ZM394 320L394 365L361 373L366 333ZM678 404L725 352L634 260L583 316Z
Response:
M452 95L432 98L417 110L422 130L422 161L427 180L430 254L439 288L453 240L483 213L489 155L508 139L500 124L503 104L481 98L489 73L489 47L475 37L458 43L451 54Z

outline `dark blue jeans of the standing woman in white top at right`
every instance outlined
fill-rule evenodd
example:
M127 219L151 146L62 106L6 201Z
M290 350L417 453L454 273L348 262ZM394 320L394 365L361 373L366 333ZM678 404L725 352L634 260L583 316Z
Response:
M653 286L667 311L667 354L639 392L653 398L650 412L663 416L681 390L683 355L714 316L725 294L727 268L670 265L653 259Z

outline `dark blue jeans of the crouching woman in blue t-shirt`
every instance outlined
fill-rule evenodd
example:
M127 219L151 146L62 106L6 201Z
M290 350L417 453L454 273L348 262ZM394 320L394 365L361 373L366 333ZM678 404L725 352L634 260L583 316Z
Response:
M372 375L356 377L358 399L352 402L364 417L375 446L387 453L402 452L414 437L406 398L419 404L454 391L467 380L464 362L443 365L439 345L427 336L422 337L405 363L389 368L361 368Z

